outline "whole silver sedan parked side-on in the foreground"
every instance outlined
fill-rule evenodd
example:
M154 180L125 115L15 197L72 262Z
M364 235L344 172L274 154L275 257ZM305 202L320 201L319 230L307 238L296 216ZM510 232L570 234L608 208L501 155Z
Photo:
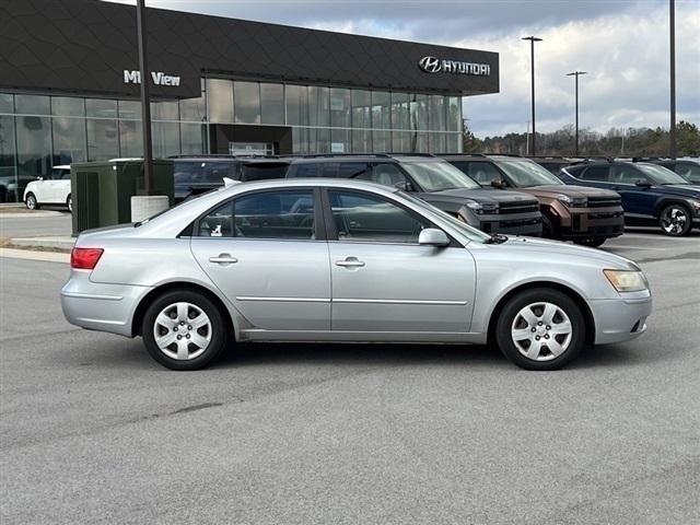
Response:
M553 370L634 339L651 292L621 257L483 234L411 196L338 179L231 185L143 223L85 232L68 320L141 336L174 370L243 341L494 342Z

